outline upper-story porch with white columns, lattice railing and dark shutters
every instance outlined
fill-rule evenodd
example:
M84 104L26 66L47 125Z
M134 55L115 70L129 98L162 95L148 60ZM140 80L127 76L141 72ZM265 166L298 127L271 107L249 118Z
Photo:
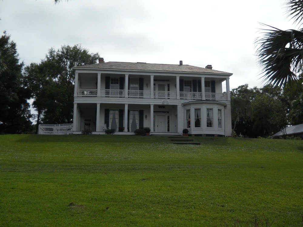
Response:
M230 100L229 77L76 72L74 96Z

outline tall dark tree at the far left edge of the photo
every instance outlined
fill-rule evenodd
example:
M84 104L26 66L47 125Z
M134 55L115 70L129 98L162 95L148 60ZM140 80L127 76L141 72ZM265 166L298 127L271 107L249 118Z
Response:
M0 37L0 133L22 133L31 126L27 100L31 92L22 75L23 62L19 62L15 42L4 32Z

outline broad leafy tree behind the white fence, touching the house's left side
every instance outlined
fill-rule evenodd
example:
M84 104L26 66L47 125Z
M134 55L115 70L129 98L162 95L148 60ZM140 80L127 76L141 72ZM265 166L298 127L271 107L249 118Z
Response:
M89 53L80 44L62 45L58 50L49 49L39 65L31 65L27 68L28 76L36 78L38 81L34 81L41 85L38 89L42 91L37 90L34 93L33 104L36 109L38 106L41 107L43 123L72 122L75 82L73 67L95 64L98 57L98 53Z

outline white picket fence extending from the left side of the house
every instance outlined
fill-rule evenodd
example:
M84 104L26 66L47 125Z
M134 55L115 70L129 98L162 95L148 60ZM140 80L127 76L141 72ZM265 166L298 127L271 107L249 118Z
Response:
M73 124L39 124L38 134L67 135L73 133Z

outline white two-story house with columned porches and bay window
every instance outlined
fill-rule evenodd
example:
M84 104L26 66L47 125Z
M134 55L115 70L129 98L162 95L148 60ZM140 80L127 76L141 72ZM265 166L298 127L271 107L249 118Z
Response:
M231 136L229 77L211 65L104 62L74 67L73 133ZM222 87L226 92L222 92Z

